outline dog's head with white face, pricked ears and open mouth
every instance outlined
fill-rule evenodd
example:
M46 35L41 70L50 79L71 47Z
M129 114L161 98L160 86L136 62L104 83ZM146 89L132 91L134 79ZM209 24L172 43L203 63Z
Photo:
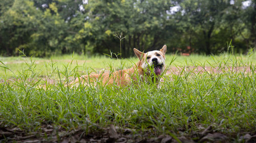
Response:
M150 70L154 68L154 72L157 76L164 72L165 67L165 52L166 45L164 45L160 50L149 51L143 53L136 48L134 48L136 56L140 59L138 66L143 68L147 74L150 74Z

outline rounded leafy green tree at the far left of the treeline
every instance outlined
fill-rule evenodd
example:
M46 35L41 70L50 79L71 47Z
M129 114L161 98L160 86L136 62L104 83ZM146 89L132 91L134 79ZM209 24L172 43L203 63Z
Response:
M1 16L1 50L8 55L13 55L16 48L25 45L30 35L37 26L38 13L33 2L26 0L15 0L11 8Z

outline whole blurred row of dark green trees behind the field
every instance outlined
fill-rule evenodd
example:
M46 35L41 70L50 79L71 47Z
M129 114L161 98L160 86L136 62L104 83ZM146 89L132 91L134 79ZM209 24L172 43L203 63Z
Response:
M120 37L121 36L121 37ZM218 54L256 45L256 0L1 0L0 55Z

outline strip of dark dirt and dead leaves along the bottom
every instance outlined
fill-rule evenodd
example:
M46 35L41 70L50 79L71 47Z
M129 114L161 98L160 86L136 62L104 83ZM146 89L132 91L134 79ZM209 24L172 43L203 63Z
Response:
M89 133L86 129L82 128L63 131L61 127L56 128L51 125L43 126L40 132L32 133L25 133L17 127L12 129L0 128L0 142L256 142L256 134L244 133L244 135L234 140L234 136L214 132L212 126L200 128L200 132L193 132L189 136L181 135L178 137L166 134L154 135L151 132L152 129L148 129L148 132L135 132L132 129L122 129L114 125L102 128L97 132L89 131Z

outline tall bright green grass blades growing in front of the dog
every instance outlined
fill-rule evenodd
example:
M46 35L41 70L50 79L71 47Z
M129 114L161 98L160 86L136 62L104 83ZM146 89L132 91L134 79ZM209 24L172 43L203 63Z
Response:
M211 125L214 131L234 139L254 132L255 65L229 54L211 59L213 63L186 61L177 66L180 72L163 76L160 89L145 83L123 88L100 83L96 87L65 87L65 82L81 75L81 65L70 68L72 61L60 70L50 62L47 76L42 78L31 59L15 78L0 83L0 125L26 132L41 132L42 126L52 125L56 131L82 128L89 133L114 124L152 136L195 134ZM203 69L196 72L198 66ZM3 67L6 72L12 70Z

